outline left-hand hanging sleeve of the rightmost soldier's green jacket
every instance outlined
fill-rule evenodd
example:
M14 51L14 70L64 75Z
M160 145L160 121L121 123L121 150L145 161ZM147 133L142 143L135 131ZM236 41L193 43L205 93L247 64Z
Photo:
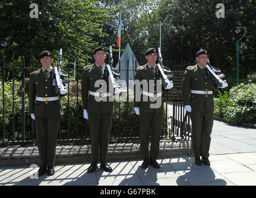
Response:
M182 80L182 96L184 105L190 105L191 73L186 69Z

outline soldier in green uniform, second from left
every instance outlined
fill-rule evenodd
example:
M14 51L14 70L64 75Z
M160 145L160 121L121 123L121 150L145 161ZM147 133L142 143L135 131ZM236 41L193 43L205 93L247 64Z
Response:
M106 64L106 50L103 46L94 49L95 63L83 68L82 75L82 101L84 117L88 119L91 137L91 160L88 173L98 168L98 158L101 168L111 172L112 168L106 163L109 132L112 124L113 93L109 88ZM112 68L111 68L112 69ZM115 90L115 93L117 89Z

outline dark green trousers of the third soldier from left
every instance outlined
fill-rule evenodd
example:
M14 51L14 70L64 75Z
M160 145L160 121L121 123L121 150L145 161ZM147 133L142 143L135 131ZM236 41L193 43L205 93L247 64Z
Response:
M160 136L162 131L163 113L140 112L140 157L156 160L159 155ZM149 137L151 145L149 152Z

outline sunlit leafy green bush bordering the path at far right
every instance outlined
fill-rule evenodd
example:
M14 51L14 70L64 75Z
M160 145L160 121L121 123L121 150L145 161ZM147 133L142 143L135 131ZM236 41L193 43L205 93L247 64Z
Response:
M216 116L231 124L252 123L256 120L256 85L239 84L216 100ZM221 112L220 112L221 111Z

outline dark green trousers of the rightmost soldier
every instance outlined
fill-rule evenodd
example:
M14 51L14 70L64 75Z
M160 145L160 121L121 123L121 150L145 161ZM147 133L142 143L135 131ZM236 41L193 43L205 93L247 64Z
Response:
M213 111L191 111L192 147L194 156L209 157L213 119Z

